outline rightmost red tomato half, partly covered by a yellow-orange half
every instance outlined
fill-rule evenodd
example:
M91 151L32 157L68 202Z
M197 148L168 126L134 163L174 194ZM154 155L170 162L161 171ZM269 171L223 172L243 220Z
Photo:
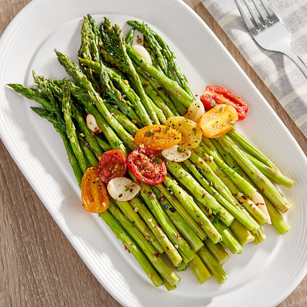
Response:
M201 101L206 111L209 111L215 104L226 103L233 106L238 114L238 120L245 119L248 111L248 105L242 98L221 86L206 86L206 91L201 96Z

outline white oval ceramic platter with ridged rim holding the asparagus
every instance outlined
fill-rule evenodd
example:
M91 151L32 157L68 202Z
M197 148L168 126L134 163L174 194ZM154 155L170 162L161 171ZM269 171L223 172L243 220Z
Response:
M294 204L289 233L244 247L225 265L229 279L213 278L202 286L189 272L180 272L178 288L156 289L136 260L97 215L80 204L80 191L53 127L29 108L33 102L5 83L33 85L31 71L63 78L54 48L76 60L82 16L97 22L106 15L124 26L128 19L146 20L162 33L178 55L194 93L218 84L244 97L250 106L239 129L289 177ZM124 31L128 30L124 26ZM15 162L103 287L125 306L274 306L286 298L306 273L306 157L287 128L201 18L178 0L33 0L12 21L0 40L0 133ZM74 268L72 268L73 270Z

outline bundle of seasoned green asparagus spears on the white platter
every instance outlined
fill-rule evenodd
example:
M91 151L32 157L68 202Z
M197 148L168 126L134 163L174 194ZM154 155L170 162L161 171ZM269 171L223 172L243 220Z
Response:
M127 156L137 148L134 134L140 127L183 115L194 100L161 36L145 23L127 23L133 29L124 38L107 18L98 27L90 15L84 17L80 67L56 51L75 83L33 73L40 91L9 84L41 104L42 108L32 109L60 134L79 186L86 168L97 167L105 151L120 149ZM131 49L135 29L144 34L152 64ZM101 127L100 134L86 125L90 113ZM190 268L200 283L211 275L223 283L228 278L222 268L229 258L225 248L241 253L248 242L258 244L266 238L260 225L267 216L249 198L256 191L263 194L276 230L280 234L289 230L278 210L283 213L291 204L269 179L288 188L293 181L234 129L217 139L203 138L188 160L165 160L165 164L168 174L163 183L140 183L134 199L110 198L109 208L99 213L156 287L164 284L173 290L180 281L164 258L177 271ZM126 176L137 182L131 172Z

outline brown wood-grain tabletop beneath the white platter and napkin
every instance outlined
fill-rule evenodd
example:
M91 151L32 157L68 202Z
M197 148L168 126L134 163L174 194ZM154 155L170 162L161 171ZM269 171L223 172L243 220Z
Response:
M111 1L111 0L110 0ZM0 0L0 34L29 0ZM200 0L198 13L307 153L306 138ZM0 141L0 306L120 306L63 235ZM307 305L307 277L279 307Z

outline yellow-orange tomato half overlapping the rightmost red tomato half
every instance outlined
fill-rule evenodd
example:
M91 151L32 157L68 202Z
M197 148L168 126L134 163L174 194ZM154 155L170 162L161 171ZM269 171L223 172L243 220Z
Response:
M217 138L226 134L237 122L236 109L229 104L216 104L201 116L199 126L203 130L203 136Z

